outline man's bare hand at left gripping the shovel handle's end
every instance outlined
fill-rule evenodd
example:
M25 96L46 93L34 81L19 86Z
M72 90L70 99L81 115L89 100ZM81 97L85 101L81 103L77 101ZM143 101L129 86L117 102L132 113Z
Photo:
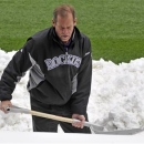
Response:
M3 111L4 113L8 113L7 107L11 107L11 106L12 106L12 103L9 100L1 101L0 103L0 110Z

